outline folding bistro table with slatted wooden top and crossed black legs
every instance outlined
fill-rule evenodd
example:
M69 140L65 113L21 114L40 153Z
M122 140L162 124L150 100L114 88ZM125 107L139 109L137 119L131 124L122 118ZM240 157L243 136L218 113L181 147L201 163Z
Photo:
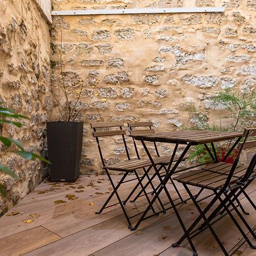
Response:
M232 139L236 139L236 142L230 147L230 150L228 153L225 155L224 159L222 161L225 161L226 158L230 155L230 153L234 150L234 148L237 146L237 144L240 142L242 138L242 132L218 132L218 131L171 131L171 132L164 132L164 133L154 133L154 134L142 134L142 135L130 135L134 139L141 141L144 150L147 153L148 158L150 159L152 166L154 167L154 170L156 172L156 176L158 176L159 181L160 181L160 186L158 191L155 193L154 197L152 198L150 204L146 208L146 210L143 212L141 218L139 218L137 224L131 228L131 230L137 229L139 224L143 220L146 220L148 217L146 217L148 211L151 209L152 205L155 203L156 199L158 199L160 193L164 190L166 193L168 200L170 200L171 208L174 209L176 216L179 218L179 214L177 214L177 209L174 204L174 200L171 198L170 193L168 193L168 189L166 187L166 184L168 180L170 180L171 176L175 173L177 173L176 169L181 163L182 159L185 157L187 154L189 148L191 146L196 146L199 144L203 144L205 148L207 149L210 157L212 158L213 162L218 162L217 158L217 153L216 153L216 148L214 147L215 142L220 142L220 141L228 141ZM168 164L167 168L167 174L164 178L159 174L158 168L156 167L157 164L154 163L154 158L151 156L150 151L147 148L147 145L145 141L149 142L163 142L163 143L172 143L175 144L174 151L171 155L170 158L170 163ZM211 144L211 148L208 146L208 144ZM184 145L185 148L183 149L183 152L179 156L177 162L174 163L174 159L177 153L177 149L179 148L180 145ZM172 164L174 163L173 167ZM198 166L198 165L197 165ZM197 166L192 166L180 171L188 170L191 168L195 168ZM203 189L202 189L203 191ZM197 194L197 196L200 195L200 191Z

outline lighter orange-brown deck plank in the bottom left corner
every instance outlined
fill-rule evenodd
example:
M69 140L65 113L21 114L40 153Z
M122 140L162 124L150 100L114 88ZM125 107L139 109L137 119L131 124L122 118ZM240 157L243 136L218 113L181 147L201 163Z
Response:
M27 253L48 243L60 240L60 237L42 226L28 229L0 239L0 255L16 256Z

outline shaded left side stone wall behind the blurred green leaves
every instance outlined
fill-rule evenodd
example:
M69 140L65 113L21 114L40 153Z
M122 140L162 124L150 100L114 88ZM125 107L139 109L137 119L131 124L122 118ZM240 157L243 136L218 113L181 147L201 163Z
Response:
M28 151L44 155L45 122L51 109L49 24L32 0L0 1L0 101L31 118L18 129L1 127L1 134L20 139ZM14 148L10 148L13 150ZM0 214L42 181L47 169L0 148L1 163L15 170L13 180L0 174L7 198L0 197Z

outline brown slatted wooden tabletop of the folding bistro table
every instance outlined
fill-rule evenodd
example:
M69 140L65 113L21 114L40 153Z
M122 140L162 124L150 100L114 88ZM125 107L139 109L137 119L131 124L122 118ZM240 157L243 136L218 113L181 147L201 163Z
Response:
M167 142L193 145L210 142L226 141L236 137L242 137L242 132L232 131L170 131L164 133L130 135L131 137L143 141Z

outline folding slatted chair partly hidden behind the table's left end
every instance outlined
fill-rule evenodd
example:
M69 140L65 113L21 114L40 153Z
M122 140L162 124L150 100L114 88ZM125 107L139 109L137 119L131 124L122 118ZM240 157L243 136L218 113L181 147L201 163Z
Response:
M153 134L153 133L155 133L155 130L152 128L152 127L154 127L152 122L129 122L129 123L127 123L127 125L128 125L128 127L130 128L130 134L131 134L131 135ZM136 152L137 158L138 158L138 159L141 159L141 157L140 157L140 155L139 155L139 148L138 148L138 145L137 145L137 143L136 143L136 141L135 141L134 138L133 138L133 144L134 144L134 148L135 148L135 152ZM156 156L153 158L154 163L159 163L158 172L159 172L160 175L162 175L162 177L164 177L164 176L167 174L167 172L168 172L168 171L167 171L167 166L168 166L168 164L170 164L171 156L170 156L170 155L160 156L158 147L157 147L157 145L156 145L156 142L153 142L153 145L154 145L154 150L155 150L155 154L156 154ZM175 162L177 161L177 159L178 159L178 158L174 159L174 160L173 160L173 163L175 163ZM184 158L183 160L185 160L185 158ZM162 170L162 168L164 168L164 172L160 172L160 171ZM150 169L151 169L151 168L148 169L148 172L150 171ZM148 175L147 172L145 172L145 174L142 176L142 180L143 180L147 175ZM148 182L144 185L144 188L147 188L148 185L150 185L150 183L152 183L152 181L154 180L154 178L155 178L156 176L157 176L156 172L152 175L152 177L151 177L150 179L149 179L149 177L147 176L149 180L148 180ZM179 196L179 199L180 199L181 201L183 201L183 198L181 197L180 192L179 192L179 190L177 189L177 187L176 187L174 181L172 180L172 178L170 178L170 181L171 181L172 185L174 186L174 189L175 189L177 195ZM133 195L134 191L138 188L138 185L139 185L139 184L137 184L137 185L134 187L133 191L131 191L130 195L129 195L129 196L127 197L127 199L126 199L126 202L127 202L127 200L130 199L131 195ZM160 185L161 185L161 184L159 184L159 186L156 187L156 189L155 189L156 191L159 189ZM135 202L135 201L138 199L138 197L140 197L140 196L142 195L142 193L143 193L143 191L140 191L140 192L137 194L137 196L136 196L133 200L131 200L131 201L132 201L132 202ZM152 195L153 195L153 194L154 194L154 191L152 192ZM126 202L125 202L125 203L126 203ZM184 203L187 203L187 201L184 201Z

